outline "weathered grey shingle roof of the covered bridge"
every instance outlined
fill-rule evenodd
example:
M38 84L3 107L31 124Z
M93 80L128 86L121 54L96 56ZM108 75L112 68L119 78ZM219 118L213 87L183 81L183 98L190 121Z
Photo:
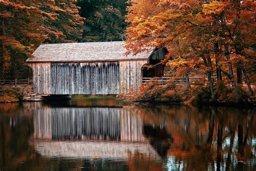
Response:
M138 53L136 56L132 54L125 56L124 42L42 44L33 52L34 58L29 58L26 61L72 62L147 59L152 51Z

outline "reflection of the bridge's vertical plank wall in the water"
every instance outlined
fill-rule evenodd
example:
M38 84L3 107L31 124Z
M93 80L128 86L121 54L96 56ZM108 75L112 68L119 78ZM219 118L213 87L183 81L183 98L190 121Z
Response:
M33 139L146 141L143 121L130 107L36 108L33 126Z

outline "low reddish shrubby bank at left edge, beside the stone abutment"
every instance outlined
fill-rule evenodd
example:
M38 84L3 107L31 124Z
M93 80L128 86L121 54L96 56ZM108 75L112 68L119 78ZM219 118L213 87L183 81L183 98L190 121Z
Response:
M22 100L22 91L15 88L2 88L0 90L0 102L18 102Z

